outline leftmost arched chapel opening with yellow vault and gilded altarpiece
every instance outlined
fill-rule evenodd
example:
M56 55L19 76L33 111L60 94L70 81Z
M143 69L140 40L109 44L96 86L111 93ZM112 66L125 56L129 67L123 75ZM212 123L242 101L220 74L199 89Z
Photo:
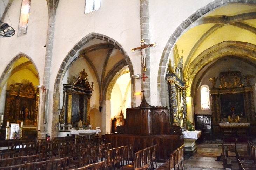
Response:
M0 115L3 115L3 126L9 123L23 125L23 131L29 130L29 136L36 139L38 126L39 76L33 61L25 56L16 56L2 74L0 87ZM33 131L33 132L32 132ZM2 129L5 139L5 128Z

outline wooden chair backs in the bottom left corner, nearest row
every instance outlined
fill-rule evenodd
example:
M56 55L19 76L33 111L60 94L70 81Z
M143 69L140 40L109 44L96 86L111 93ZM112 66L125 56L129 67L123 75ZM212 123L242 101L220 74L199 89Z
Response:
M47 160L41 162L31 162L9 167L1 167L0 170L65 170L68 158Z

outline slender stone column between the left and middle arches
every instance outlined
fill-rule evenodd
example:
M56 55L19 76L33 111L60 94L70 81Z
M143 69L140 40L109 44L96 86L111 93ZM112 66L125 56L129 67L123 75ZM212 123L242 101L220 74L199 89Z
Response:
M46 38L46 52L45 52L45 70L43 72L43 86L46 89L49 89L50 86L50 69L52 64L52 52L53 52L53 37L54 37L54 28L55 28L55 15L56 15L56 9L58 6L59 0L47 0L48 5L48 30L47 30L47 38ZM41 139L42 137L45 137L45 133L50 133L51 137L57 137L52 136L52 132L55 132L56 130L59 130L59 120L58 119L52 119L52 122L49 122L51 124L51 127L54 127L51 129L51 132L48 132L48 125L44 123L44 113L45 113L45 101L46 101L46 92L42 93L42 105L41 105L41 116L40 116L40 128L38 128L38 138ZM54 102L54 101L53 101ZM57 114L57 113L53 113ZM58 134L58 133L54 133Z

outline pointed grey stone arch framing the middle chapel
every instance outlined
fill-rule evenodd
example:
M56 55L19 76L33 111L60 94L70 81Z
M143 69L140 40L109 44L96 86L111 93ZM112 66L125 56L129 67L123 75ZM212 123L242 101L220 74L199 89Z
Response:
M54 92L53 92L53 113L55 113L55 114L53 114L53 119L52 119L53 120L52 121L52 136L53 137L58 136L58 131L59 131L58 113L59 113L59 106L60 106L60 86L61 86L63 77L70 66L69 64L72 63L73 61L75 61L79 57L79 55L77 55L77 52L81 49L81 47L83 47L83 45L85 45L89 41L93 40L94 38L106 41L106 42L112 44L116 49L118 49L124 57L122 62L125 65L127 65L129 68L130 76L134 75L132 62L131 62L127 52L124 50L124 48L121 46L121 44L119 44L117 41L115 41L114 39L112 39L106 35L99 34L99 33L90 33L87 36L85 36L84 38L82 38L82 40L80 40L77 44L75 44L74 47L69 51L68 55L64 58L63 62L61 63L60 69L58 71L57 77L55 79ZM109 84L109 83L110 82L108 82L107 84ZM107 85L107 87L108 87L108 85ZM132 92L135 93L135 81L132 81L131 88L132 88L131 89ZM103 96L106 97L107 88L104 88L104 90L105 91L103 91L103 94L105 94L105 95L103 95ZM132 104L133 103L135 104L135 96L132 95Z

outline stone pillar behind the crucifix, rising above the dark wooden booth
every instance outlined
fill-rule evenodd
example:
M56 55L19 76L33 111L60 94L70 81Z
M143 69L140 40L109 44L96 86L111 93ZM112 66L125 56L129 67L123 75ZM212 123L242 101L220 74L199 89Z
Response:
M149 34L149 11L148 11L148 1L149 0L140 0L140 29L141 29L141 39L145 41L146 44L150 44L150 34ZM144 96L148 104L151 103L150 98L150 48L145 50L146 53L146 68L147 70L143 70L142 59L141 59L141 76L145 74L145 81L141 79L141 89L143 89ZM141 95L142 100L142 95Z

